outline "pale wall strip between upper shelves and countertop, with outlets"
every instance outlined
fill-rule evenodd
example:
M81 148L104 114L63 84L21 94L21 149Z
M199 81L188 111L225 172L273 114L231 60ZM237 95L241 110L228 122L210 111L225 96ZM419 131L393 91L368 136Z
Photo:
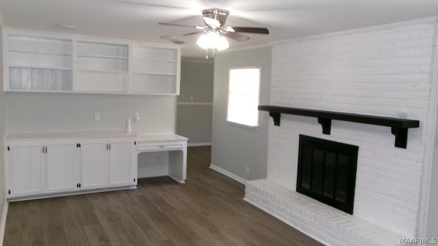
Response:
M8 92L8 132L123 131L173 133L175 96ZM94 113L101 114L94 121ZM140 113L140 122L133 121Z

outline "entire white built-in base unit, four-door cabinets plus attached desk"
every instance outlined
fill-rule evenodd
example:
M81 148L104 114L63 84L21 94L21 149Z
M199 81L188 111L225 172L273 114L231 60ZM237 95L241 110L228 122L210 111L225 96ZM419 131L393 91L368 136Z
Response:
M135 189L138 178L168 175L185 182L187 138L122 131L9 133L5 137L8 200ZM165 154L165 172L142 169L138 156ZM164 161L165 162L164 162Z

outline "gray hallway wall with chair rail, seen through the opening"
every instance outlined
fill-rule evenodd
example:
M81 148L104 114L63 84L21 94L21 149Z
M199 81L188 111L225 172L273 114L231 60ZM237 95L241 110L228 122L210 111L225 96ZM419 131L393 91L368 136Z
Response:
M190 146L211 144L213 69L211 61L181 61L176 132L188 137Z

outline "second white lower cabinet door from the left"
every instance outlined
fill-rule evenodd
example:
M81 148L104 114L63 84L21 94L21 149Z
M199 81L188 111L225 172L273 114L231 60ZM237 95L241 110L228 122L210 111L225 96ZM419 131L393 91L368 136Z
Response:
M77 142L46 144L47 191L75 191L79 183Z

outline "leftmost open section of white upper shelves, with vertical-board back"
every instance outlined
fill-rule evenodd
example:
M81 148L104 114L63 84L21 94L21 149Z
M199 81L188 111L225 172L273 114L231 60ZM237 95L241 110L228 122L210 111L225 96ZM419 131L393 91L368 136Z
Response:
M8 90L73 91L73 41L8 36Z

